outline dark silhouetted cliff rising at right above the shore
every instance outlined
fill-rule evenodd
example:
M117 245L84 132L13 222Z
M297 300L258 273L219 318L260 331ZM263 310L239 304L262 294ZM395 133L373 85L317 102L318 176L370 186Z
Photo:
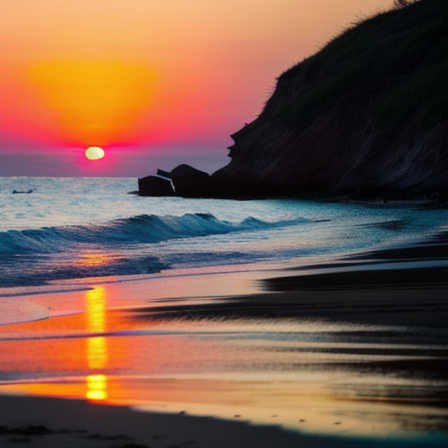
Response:
M448 192L448 2L367 19L283 73L203 196Z

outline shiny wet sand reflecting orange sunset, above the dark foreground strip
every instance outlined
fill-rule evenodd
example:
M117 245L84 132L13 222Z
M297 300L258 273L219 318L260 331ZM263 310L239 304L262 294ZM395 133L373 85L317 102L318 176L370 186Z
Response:
M443 328L288 317L287 302L280 317L278 295L270 309L266 297L220 298L212 309L194 296L148 301L137 286L95 287L70 297L83 313L0 327L0 359L8 360L0 389L310 433L448 430ZM133 304L136 291L145 301L124 308L116 289ZM312 298L317 307L318 295ZM10 381L17 372L20 384Z

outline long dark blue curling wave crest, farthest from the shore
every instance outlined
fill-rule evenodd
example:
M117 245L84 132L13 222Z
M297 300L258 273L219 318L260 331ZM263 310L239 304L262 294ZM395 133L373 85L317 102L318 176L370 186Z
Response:
M268 223L249 217L235 224L209 213L183 216L138 215L100 224L82 224L0 232L0 253L4 255L54 254L73 244L103 247L158 243L174 238L192 238L238 231L260 230L307 222L305 219Z

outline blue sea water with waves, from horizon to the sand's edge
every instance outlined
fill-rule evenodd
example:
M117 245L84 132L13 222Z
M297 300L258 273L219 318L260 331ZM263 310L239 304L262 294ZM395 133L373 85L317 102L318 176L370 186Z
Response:
M136 188L132 178L2 178L0 287L323 263L422 239L448 222L447 210L416 205L153 198Z

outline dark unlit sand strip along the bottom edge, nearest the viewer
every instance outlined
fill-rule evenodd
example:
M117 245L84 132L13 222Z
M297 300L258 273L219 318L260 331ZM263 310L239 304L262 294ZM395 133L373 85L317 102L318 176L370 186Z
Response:
M303 420L306 422L306 420ZM338 423L336 423L338 424ZM441 448L448 434L354 436L291 431L214 417L139 412L81 400L0 394L0 447L31 448Z

